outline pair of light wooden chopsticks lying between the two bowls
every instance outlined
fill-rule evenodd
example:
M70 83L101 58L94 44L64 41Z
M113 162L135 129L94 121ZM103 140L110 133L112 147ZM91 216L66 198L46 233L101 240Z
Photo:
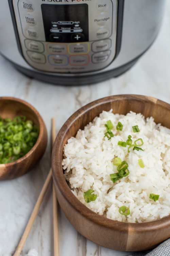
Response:
M54 144L54 141L55 141L55 137L56 137L56 131L55 131L55 119L52 118L52 146ZM46 191L49 187L49 184L50 184L50 181L52 179L52 170L50 168L50 171L49 171L49 174L46 178L46 181L44 183L44 186L40 192L40 195L38 197L38 200L34 206L34 210L31 214L31 217L28 221L28 224L27 224L27 227L25 229L25 231L23 232L23 235L22 235L22 238L18 244L18 247L14 253L13 256L19 256L21 251L22 251L22 248L28 238L28 235L30 233L30 230L32 228L32 225L34 223L34 220L37 216L37 213L39 211L39 208L40 208L40 205L44 199L44 196L46 194ZM56 194L55 194L55 189L54 189L54 184L53 184L53 235L54 235L54 256L59 256L59 239L58 239L58 221L57 221L57 218L58 218L58 213L57 213L57 199L56 199Z

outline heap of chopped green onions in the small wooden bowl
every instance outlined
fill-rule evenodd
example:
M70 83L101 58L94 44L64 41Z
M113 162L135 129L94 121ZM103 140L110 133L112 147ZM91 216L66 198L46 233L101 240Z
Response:
M25 116L0 117L0 164L14 162L27 154L35 145L39 128Z

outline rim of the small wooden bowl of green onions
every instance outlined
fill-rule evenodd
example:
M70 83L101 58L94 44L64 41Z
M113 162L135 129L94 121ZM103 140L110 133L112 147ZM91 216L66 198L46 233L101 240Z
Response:
M27 157L31 156L32 153L35 152L35 150L37 149L39 143L40 143L40 140L43 136L43 129L44 129L44 121L43 121L43 118L41 117L41 115L39 114L39 112L30 104L28 103L27 101L23 100L23 99L19 99L19 98L15 98L15 97L6 97L6 96L2 96L0 97L0 101L1 100L11 100L11 102L19 102L25 106L27 106L28 108L30 108L36 115L37 117L37 120L38 120L38 123L39 123L39 135L38 135L38 138L37 138L37 141L36 143L34 144L34 146L31 148L30 151L28 151L27 154L25 154L23 157L13 161L13 162L10 162L10 163L6 163L6 164L0 164L0 168L3 168L3 167L10 167L10 166L13 166L13 165L16 165L17 163L20 163L22 161L24 161ZM43 127L43 129L42 129Z

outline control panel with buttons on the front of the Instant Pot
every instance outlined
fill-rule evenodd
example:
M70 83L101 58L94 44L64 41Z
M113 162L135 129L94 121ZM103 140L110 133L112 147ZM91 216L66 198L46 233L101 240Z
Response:
M116 52L117 0L13 0L22 54L33 68L96 71Z

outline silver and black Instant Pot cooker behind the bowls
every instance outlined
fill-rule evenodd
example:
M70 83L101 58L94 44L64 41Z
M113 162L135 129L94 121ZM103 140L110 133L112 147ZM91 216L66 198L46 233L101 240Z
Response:
M0 52L27 76L61 85L128 70L153 43L165 0L2 0Z

